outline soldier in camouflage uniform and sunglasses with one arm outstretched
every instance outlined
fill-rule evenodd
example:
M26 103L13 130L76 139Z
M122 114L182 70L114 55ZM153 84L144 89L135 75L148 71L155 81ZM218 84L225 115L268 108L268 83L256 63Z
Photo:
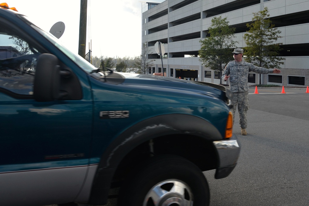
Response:
M235 48L233 52L234 61L229 62L225 66L222 79L227 81L230 78L230 90L233 92L233 117L235 116L236 107L238 105L239 124L241 127L241 134L247 135L247 111L249 109L248 100L248 74L255 72L258 74L277 73L279 69L266 69L258 67L242 60L243 49ZM233 120L234 123L234 120Z

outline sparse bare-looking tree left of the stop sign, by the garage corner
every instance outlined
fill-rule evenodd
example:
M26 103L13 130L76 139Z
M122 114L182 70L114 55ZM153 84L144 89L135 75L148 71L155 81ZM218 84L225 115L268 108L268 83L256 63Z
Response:
M148 59L149 48L147 42L142 44L142 54L136 58L134 66L138 68L138 74L148 74L148 67L151 67L154 61L153 59Z

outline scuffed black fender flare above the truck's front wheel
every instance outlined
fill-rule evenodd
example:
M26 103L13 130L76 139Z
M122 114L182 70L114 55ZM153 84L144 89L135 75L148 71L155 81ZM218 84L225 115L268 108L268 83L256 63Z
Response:
M89 203L106 204L114 172L127 153L145 141L167 134L191 134L212 141L222 139L210 122L193 115L168 114L143 120L116 137L101 156Z

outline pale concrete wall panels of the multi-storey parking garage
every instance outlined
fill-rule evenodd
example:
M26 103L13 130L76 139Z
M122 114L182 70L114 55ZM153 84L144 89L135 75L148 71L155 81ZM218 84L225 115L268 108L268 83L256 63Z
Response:
M193 20L191 22L182 23L177 26L171 26L171 22L183 19L185 17L195 15L200 13L201 17L205 15L203 11L223 6L227 3L236 2L237 0L198 0L193 2L189 5L183 6L173 11L171 9L174 5L177 5L182 0L166 0L161 4L155 6L154 8L146 11L142 15L142 42L150 42L156 40L163 40L168 39L168 44L165 44L165 52L166 53L179 53L179 52L188 52L188 51L198 51L200 49L200 40L201 38L197 39L190 39L190 40L182 40L171 42L172 37L181 36L186 34L191 34L195 32L200 32L202 36L202 32L206 31L208 27L211 25L211 19L213 17L201 18L198 20ZM262 11L264 7L268 7L270 17L276 17L281 15L293 14L295 12L300 11L307 11L309 10L309 0L271 0L265 1L261 0L260 3L248 6L245 8L237 9L234 11L229 11L226 13L222 13L216 16L227 17L230 25L237 25L241 23L250 22L253 18L252 13L256 13ZM152 15L160 13L161 11L168 11L167 15L154 19L148 22L148 18ZM146 23L145 23L146 19ZM144 31L148 31L151 28L161 26L163 24L168 24L168 29L163 31L151 33L145 35ZM298 24L292 26L285 26L285 27L278 27L281 31L281 36L277 42L282 42L285 45L288 44L304 44L309 43L309 23L305 24ZM243 40L244 32L236 33L235 39L238 41L237 47L245 47L246 44ZM149 47L151 53L156 53L154 51L154 46ZM309 72L309 57L308 56L294 56L294 57L285 57L286 60L284 61L284 65L282 66L282 74L285 76L284 81L282 84L287 84L286 77L287 75L292 75L293 72L295 74L307 74ZM155 59L154 61L155 67L162 67L161 59ZM217 79L210 80L209 78L204 78L204 71L209 70L201 65L198 57L178 57L173 58L170 57L168 59L163 59L163 64L167 68L167 73L169 74L169 68L176 68L178 65L182 65L184 67L191 67L191 68L199 68L199 81L211 81L217 82ZM306 69L306 72L301 72L302 69ZM308 74L309 75L309 74ZM306 76L309 77L309 76ZM258 78L257 78L258 79ZM267 80L267 75L263 76L263 79ZM265 81L266 81L265 80ZM306 83L309 84L309 78L306 78Z

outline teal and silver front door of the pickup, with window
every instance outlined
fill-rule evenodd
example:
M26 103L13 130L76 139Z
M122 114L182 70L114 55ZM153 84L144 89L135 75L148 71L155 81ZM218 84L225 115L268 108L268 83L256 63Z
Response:
M36 58L46 50L1 18L0 24L1 203L73 201L88 169L92 101L81 86L87 82L71 69L65 81L78 98L35 101Z

